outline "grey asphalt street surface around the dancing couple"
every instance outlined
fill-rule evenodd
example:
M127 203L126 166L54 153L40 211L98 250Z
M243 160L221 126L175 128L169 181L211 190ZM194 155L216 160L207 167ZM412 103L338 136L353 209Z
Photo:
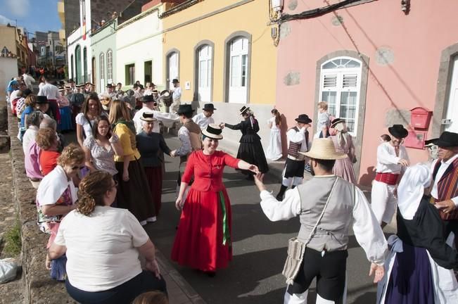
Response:
M170 148L179 146L176 137L165 137ZM215 277L181 267L170 261L179 222L179 212L174 207L179 159L165 156L165 160L163 207L158 221L145 227L160 252L208 304L282 303L286 284L281 270L288 239L297 234L300 226L298 217L281 222L267 220L260 208L259 193L254 183L227 167L224 170L224 185L231 199L234 258L229 267L219 270ZM275 174L267 175L265 180L267 189L274 193L279 190L279 177ZM390 230L392 228L386 229L393 233ZM348 253L347 303L374 303L376 285L368 277L369 262L355 236L350 237ZM314 303L314 284L309 295L308 303Z

